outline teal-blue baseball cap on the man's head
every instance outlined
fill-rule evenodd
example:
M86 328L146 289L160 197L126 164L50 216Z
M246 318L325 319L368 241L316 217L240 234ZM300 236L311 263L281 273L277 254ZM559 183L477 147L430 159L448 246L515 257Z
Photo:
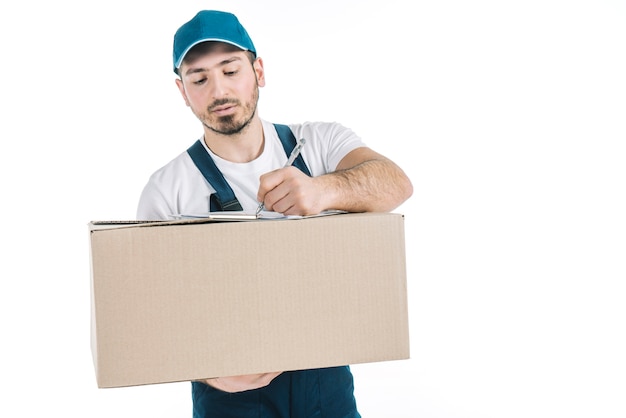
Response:
M178 74L183 58L191 48L206 41L226 42L256 56L252 39L234 14L202 10L174 35L174 72Z

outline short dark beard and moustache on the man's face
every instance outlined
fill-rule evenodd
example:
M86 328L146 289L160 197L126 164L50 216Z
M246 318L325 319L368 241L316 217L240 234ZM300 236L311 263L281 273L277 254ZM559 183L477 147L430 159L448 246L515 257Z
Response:
M211 103L207 108L207 113L204 116L198 115L198 118L202 121L202 124L208 129L221 135L235 135L244 130L254 118L256 114L257 104L259 102L259 87L256 86L252 93L252 97L248 102L242 103L238 99L219 99ZM243 109L243 115L238 116L227 115L211 117L211 111L217 106L223 106L226 104L232 104Z

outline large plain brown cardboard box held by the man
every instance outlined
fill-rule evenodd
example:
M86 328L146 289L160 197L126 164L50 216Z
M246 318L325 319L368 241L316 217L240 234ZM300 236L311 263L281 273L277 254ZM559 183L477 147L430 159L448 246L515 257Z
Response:
M98 387L409 358L400 214L89 232Z

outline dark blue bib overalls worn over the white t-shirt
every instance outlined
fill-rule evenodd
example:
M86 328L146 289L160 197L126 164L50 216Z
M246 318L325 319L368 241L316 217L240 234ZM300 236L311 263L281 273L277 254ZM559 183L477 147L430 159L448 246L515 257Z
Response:
M296 138L286 125L274 124L287 155ZM242 210L234 192L198 140L187 152L216 193L211 211ZM302 155L294 166L307 175ZM360 418L349 366L287 371L259 389L228 393L192 382L193 418Z

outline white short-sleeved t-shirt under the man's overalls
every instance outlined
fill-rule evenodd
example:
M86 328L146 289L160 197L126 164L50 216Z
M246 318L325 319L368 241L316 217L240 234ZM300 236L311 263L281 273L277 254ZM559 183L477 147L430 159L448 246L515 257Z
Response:
M262 123L263 153L248 163L226 161L213 154L202 141L246 212L253 212L258 206L256 195L261 175L284 166L288 158L274 125ZM346 154L365 146L360 137L338 123L307 122L289 127L296 138L306 139L301 155L314 177L335 171ZM185 151L150 176L139 199L137 219L161 220L176 214L207 213L212 193L215 189Z

